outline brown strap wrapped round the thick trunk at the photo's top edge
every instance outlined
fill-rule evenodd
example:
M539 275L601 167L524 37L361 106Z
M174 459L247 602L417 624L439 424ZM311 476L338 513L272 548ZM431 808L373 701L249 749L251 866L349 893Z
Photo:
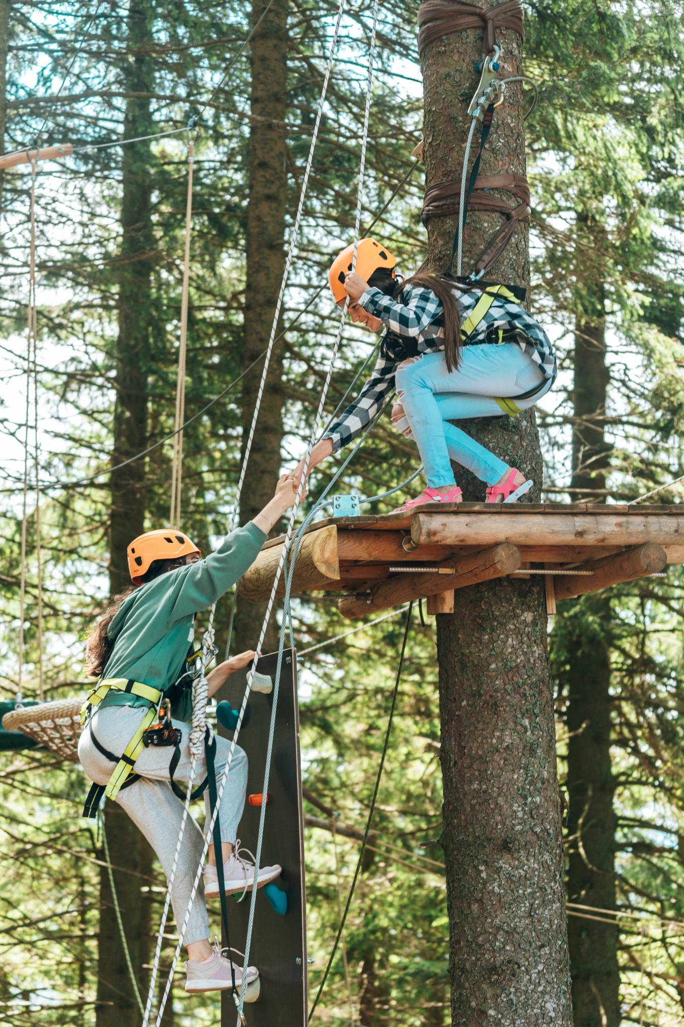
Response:
M426 0L418 7L418 53L441 36L484 27L484 49L493 53L496 29L513 29L525 38L520 0L507 0L492 7L478 7L462 0Z

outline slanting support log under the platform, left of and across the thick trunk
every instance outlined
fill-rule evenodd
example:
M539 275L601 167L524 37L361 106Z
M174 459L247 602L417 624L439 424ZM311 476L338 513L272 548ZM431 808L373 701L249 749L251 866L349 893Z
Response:
M491 546L480 553L462 557L453 564L453 577L444 574L396 574L386 581L373 585L367 596L346 596L339 600L339 612L351 620L365 617L377 610L387 610L391 606L399 606L411 599L425 599L438 592L444 592L444 586L465 588L478 581L489 581L491 578L504 577L520 567L520 550L510 542Z

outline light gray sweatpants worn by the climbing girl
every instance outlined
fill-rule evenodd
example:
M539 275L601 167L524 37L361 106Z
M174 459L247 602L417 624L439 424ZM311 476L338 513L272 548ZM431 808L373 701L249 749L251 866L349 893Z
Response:
M135 733L145 713L144 709L135 707L106 707L104 710L95 710L92 717L92 730L95 733L97 741L111 753L117 756L121 755ZM180 740L180 760L173 773L173 779L187 782L190 777L191 763L189 744L190 725L174 720L173 726L179 727L183 735ZM215 773L217 789L220 786L220 778L226 768L231 743L227 738L216 737ZM169 784L168 765L172 754L173 748L170 746L163 748L151 746L149 749L144 749L135 761L135 772L142 775L140 781L120 791L116 799L154 848L167 878L171 873L184 807L184 803L173 794ZM95 749L88 728L81 734L78 744L78 757L83 769L91 781L94 781L97 785L106 785L108 783L115 764L111 763L110 760ZM197 760L193 787L196 788L200 782L204 781L205 775L206 762L204 753L202 753L202 756ZM236 746L219 808L220 837L223 841L230 841L235 844L238 824L244 809L246 790L247 757L243 750L239 746ZM208 789L204 792L204 801L206 806L206 823L208 825ZM173 913L175 914L178 928L180 928L186 917L186 910L188 909L195 875L197 874L197 868L202 855L203 844L203 836L198 824L192 816L189 816L186 821L186 830L183 836L183 844L175 869L175 879L171 890L171 905L173 906ZM113 863L120 863L121 860L125 860L125 853L118 853L118 858L113 851L111 854ZM220 859L218 853L216 853L216 859ZM208 937L209 918L204 901L204 882L200 878L184 944L188 945L192 942L199 942Z

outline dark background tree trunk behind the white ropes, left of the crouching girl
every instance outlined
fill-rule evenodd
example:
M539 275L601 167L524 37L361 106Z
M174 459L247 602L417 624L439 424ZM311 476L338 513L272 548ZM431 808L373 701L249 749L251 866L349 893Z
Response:
M252 24L261 16L266 0L254 0ZM287 0L275 0L251 41L251 113L249 134L249 206L247 208L247 288L244 314L244 366L266 349L285 266L285 201L287 150ZM264 119L264 120L259 120ZM268 119L268 120L267 120ZM271 120L273 119L273 120ZM276 335L282 331L278 326ZM281 379L284 339L276 343L240 499L240 523L246 524L273 496L280 473L283 435ZM242 456L249 434L260 380L259 365L242 388ZM266 603L238 601L236 648L256 645ZM264 651L277 648L275 618Z

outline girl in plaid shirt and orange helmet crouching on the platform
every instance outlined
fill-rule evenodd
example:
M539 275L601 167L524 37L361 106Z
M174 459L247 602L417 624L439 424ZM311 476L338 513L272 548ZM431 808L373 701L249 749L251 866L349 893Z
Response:
M355 271L352 253L348 246L330 268L335 302L344 307L349 297L355 324L386 331L372 374L314 447L310 469L361 434L396 388L392 421L416 443L428 481L424 492L398 510L460 502L451 461L486 482L487 502L501 502L521 486L531 488L518 468L450 422L515 416L545 395L557 368L544 329L506 287L459 287L417 273L398 290L396 261L387 246L362 239ZM295 481L303 469L304 461Z

